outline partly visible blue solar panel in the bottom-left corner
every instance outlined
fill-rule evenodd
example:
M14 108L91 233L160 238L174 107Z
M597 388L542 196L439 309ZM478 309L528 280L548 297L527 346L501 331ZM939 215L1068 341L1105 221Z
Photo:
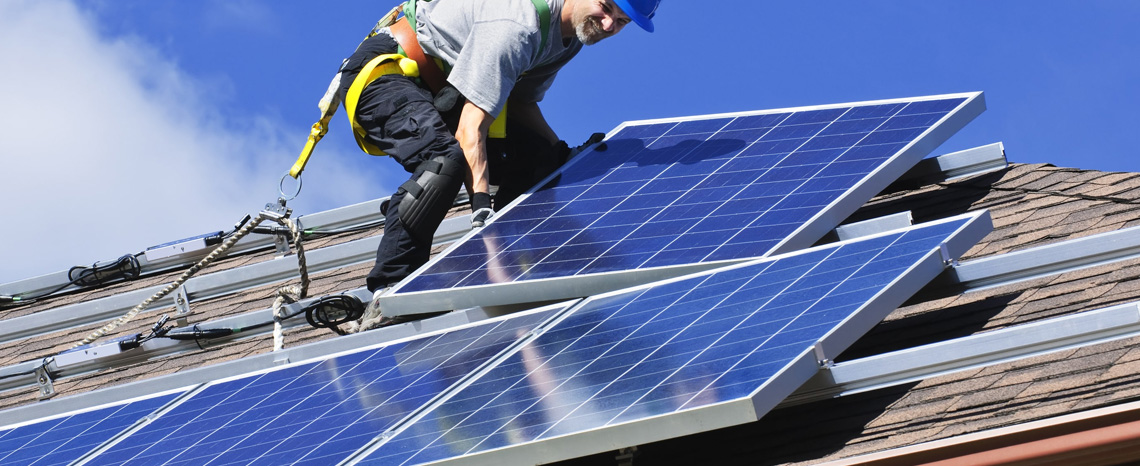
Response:
M177 395L169 393L0 431L0 464L71 464Z

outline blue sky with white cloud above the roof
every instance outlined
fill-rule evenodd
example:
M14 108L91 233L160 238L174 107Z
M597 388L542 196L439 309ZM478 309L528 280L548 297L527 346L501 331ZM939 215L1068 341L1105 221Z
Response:
M276 196L342 57L391 5L3 0L0 283L227 229ZM630 120L985 91L936 154L1140 171L1140 2L666 0L586 48L544 103L571 145ZM299 214L405 178L342 115Z

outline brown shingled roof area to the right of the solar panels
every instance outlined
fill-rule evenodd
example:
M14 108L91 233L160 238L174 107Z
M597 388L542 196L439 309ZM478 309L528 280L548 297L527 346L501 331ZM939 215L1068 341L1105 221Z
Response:
M881 195L853 216L910 210L919 222L988 209L994 231L962 257L969 260L1132 227L1140 222L1138 187L1134 173L1012 164ZM1134 302L1138 279L1140 260L1133 259L964 293L934 283L839 360ZM636 461L817 464L1135 401L1137 343L1118 340L781 408L757 423L638 445ZM717 447L706 448L710 442Z

